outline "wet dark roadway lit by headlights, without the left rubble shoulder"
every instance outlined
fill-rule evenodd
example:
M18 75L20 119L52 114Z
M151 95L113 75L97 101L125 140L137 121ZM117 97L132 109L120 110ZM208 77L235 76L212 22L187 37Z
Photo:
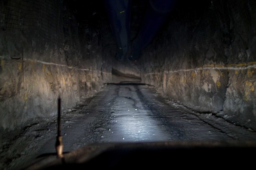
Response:
M256 139L248 129L211 114L174 106L147 85L106 85L63 115L64 151L102 142ZM55 152L55 140L54 135L39 154Z

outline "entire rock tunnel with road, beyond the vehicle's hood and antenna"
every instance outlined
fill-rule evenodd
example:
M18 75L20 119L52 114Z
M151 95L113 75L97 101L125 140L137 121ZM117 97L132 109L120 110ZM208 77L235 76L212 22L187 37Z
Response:
M0 167L54 151L59 97L64 151L256 139L256 1L122 2L0 1Z

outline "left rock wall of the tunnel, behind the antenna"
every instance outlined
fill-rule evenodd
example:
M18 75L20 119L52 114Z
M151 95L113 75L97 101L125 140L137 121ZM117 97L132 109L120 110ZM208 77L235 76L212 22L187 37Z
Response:
M99 33L66 1L0 2L0 130L56 115L58 96L72 108L111 79Z

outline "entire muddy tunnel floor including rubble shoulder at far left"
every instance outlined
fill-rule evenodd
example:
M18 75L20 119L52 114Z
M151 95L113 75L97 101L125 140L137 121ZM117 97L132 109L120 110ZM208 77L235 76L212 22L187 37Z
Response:
M108 142L256 140L254 131L228 122L224 113L197 113L148 85L104 85L61 116L64 152ZM33 119L1 134L0 169L22 167L39 155L54 153L56 120Z

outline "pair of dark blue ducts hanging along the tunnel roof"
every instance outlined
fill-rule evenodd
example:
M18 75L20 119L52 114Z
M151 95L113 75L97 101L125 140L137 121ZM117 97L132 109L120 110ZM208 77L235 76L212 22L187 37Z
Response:
M140 59L141 51L155 37L176 0L149 0L139 33L131 44L129 60ZM131 0L105 0L110 27L117 45L117 60L123 60L130 45Z

